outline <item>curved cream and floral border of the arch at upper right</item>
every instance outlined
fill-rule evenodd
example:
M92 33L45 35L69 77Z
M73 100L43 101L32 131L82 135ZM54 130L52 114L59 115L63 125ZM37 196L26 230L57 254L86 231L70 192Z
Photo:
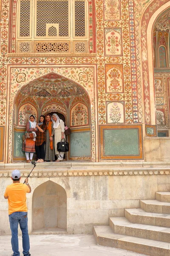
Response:
M159 15L170 7L170 1L154 0L145 10L141 20L141 55L142 77L144 89L144 121L147 125L156 124L155 113L155 86L154 86L154 62L159 63L159 56L154 60L154 41L156 33L154 24ZM151 33L152 31L152 33ZM162 42L162 41L161 41Z

